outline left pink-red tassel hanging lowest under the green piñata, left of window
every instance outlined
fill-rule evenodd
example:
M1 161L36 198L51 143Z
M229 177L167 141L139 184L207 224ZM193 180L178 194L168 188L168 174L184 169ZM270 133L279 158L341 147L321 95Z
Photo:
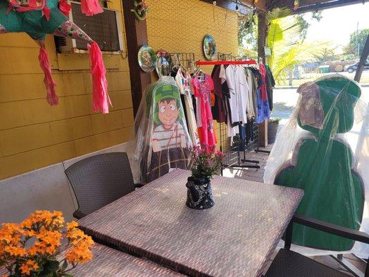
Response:
M39 48L39 66L41 66L42 71L44 71L44 84L47 91L46 100L49 105L57 105L59 103L59 98L55 93L56 83L51 75L50 61L48 60L48 54L45 48Z

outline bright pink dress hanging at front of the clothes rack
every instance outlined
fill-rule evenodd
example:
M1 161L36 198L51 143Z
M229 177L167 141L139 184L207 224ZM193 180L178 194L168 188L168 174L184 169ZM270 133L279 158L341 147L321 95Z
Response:
M204 74L204 80L201 81L195 75L192 78L192 86L197 103L200 105L197 120L201 118L201 127L199 127L199 137L201 145L215 145L215 134L213 128L213 114L210 108L210 92L214 89L213 79L208 74Z

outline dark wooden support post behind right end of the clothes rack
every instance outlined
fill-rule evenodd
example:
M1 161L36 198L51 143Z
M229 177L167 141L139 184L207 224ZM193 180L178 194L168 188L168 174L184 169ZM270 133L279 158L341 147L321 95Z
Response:
M258 13L258 56L259 60L265 64L265 42L266 42L267 18L265 12ZM259 124L259 146L267 147L268 145L268 120Z

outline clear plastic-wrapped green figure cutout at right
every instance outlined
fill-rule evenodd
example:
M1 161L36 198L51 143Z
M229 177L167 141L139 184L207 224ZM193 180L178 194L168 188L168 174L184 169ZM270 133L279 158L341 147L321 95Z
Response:
M298 93L296 108L273 145L264 181L305 190L299 215L369 233L368 100L357 82L339 74L303 84ZM298 224L292 242L309 247L313 255L350 251L367 258L369 253L363 244Z

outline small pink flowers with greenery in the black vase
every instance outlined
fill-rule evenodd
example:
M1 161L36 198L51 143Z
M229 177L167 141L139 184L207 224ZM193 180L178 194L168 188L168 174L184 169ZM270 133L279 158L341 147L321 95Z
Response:
M190 148L192 156L192 176L197 178L210 179L217 174L222 167L222 160L226 154L215 149L215 146L192 145Z

